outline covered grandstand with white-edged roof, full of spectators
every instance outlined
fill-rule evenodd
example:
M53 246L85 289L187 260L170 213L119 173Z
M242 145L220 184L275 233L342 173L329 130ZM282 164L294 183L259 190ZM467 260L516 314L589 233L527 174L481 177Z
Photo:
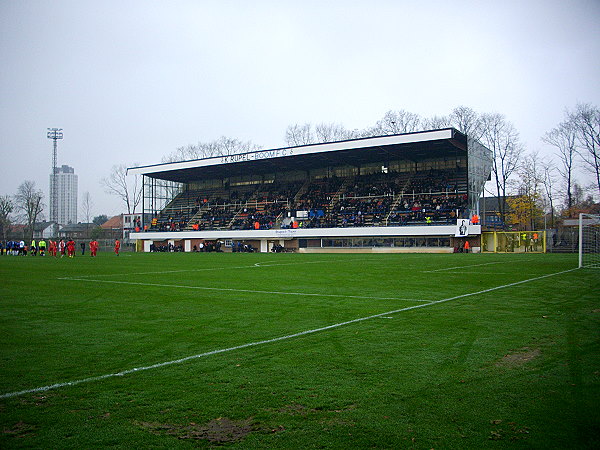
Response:
M146 223L130 238L144 251L477 251L468 219L491 152L447 128L128 171L142 175Z

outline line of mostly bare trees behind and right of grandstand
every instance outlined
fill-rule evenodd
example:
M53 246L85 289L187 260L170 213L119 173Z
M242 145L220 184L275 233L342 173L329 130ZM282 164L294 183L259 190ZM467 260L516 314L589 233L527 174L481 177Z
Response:
M541 155L538 150L527 151L519 132L503 114L479 113L467 106L433 117L391 110L373 126L361 130L350 130L339 123L293 124L287 127L284 139L285 144L292 147L448 127L456 128L491 150L494 188L487 193L498 197L498 213L503 223L534 227L536 219L548 213L554 225L557 210L562 215L570 215L577 207L593 209L592 193L600 194L600 109L591 104L580 103L574 110L566 110L563 121L541 137L542 142L553 148L551 155ZM185 161L260 149L249 141L221 137L179 147L162 161ZM594 182L582 185L583 172L590 173Z

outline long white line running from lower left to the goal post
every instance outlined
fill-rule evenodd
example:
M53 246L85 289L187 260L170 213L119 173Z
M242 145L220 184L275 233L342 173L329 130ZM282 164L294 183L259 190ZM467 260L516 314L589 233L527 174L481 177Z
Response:
M358 319L348 320L346 322L340 322L340 323L336 323L336 324L333 324L333 325L328 325L326 327L315 328L315 329L312 329L312 330L301 331L299 333L288 334L286 336L280 336L280 337L276 337L276 338L273 338L273 339L266 339L264 341L250 342L250 343L247 343L247 344L237 345L235 347L229 347L229 348L223 348L223 349L219 349L219 350L213 350L213 351L206 352L206 353L199 353L197 355L186 356L185 358L180 358L180 359L175 359L175 360L172 360L172 361L166 361L166 362L162 362L162 363L152 364L150 366L134 367L133 369L123 370L123 371L117 372L117 373L109 373L109 374L106 374L106 375L99 375L99 376L96 376L96 377L83 378L83 379L75 380L75 381L67 381L67 382L64 382L64 383L56 383L56 384L51 384L51 385L48 385L48 386L37 387L37 388L34 388L34 389L26 389L26 390L23 390L23 391L7 392L5 394L1 394L0 395L0 399L2 399L2 398L17 397L17 396L20 396L20 395L32 394L32 393L36 393L36 392L45 392L45 391L49 391L51 389L58 389L58 388L61 388L61 387L66 387L66 386L75 386L75 385L78 385L78 384L90 383L90 382L94 382L94 381L101 381L101 380L105 380L107 378L122 377L124 375L129 375L129 374L135 373L135 372L141 372L143 370L158 369L160 367L170 366L170 365L173 365L173 364L181 364L181 363L186 362L186 361L190 361L190 360L198 359L198 358L203 358L203 357L211 356L211 355L217 355L219 353L231 352L231 351L234 351L234 350L241 350L243 348L248 348L248 347L256 347L258 345L271 344L273 342L284 341L284 340L287 340L287 339L293 339L293 338L300 337L300 336L305 336L305 335L308 335L308 334L318 333L320 331L331 330L333 328L339 328L339 327L342 327L344 325L350 325L350 324L353 324L353 323L363 322L365 320L375 319L375 318L378 318L378 317L384 317L384 316L388 316L390 314L397 314L397 313L400 313L400 312L403 312L403 311L410 311L412 309L424 308L426 306L437 305L438 303L445 303L445 302L449 302L449 301L452 301L452 300L458 300L460 298L471 297L471 296L474 296L474 295L486 294L488 292L493 292L493 291L497 291L497 290L508 288L508 287L512 287L512 286L518 286L520 284L529 283L531 281L537 281L537 280L541 280L541 279L544 279L544 278L549 278L549 277L552 277L552 276L555 276L555 275L562 275L564 273L573 272L575 270L578 270L578 268L569 269L569 270L563 270L563 271L560 271L560 272L554 272L554 273L550 273L550 274L547 274L547 275L541 275L539 277L529 278L527 280L515 281L514 283L504 284L502 286L496 286L496 287L489 288L489 289L483 289L483 290L477 291L477 292L470 292L468 294L456 295L454 297L448 297L448 298L444 298L444 299L441 299L441 300L435 300L435 301L432 301L432 302L429 302L429 303L423 303L423 304L420 304L420 305L408 306L406 308L396 309L396 310L393 310L393 311L386 311L384 313L374 314L372 316L360 317Z

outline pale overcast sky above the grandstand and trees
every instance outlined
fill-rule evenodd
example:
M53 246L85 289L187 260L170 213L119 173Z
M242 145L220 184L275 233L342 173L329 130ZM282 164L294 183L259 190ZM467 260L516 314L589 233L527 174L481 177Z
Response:
M281 147L294 123L465 105L548 152L565 108L600 105L599 55L599 0L3 0L0 195L30 179L48 203L48 127L93 215L123 210L99 185L113 164L223 135Z

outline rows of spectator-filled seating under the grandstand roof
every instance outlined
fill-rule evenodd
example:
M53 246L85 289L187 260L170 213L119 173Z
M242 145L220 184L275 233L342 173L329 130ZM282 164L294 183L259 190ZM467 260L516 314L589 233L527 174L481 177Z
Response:
M458 169L270 180L186 189L158 214L149 230L446 224L460 217L466 204L466 174ZM295 224L290 217L296 217Z

